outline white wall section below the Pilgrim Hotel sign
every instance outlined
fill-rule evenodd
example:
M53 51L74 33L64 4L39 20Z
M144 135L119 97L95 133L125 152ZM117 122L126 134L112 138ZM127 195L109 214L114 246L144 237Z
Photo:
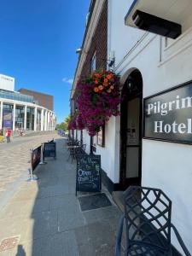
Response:
M172 200L172 223L192 252L191 146L143 140L144 186L160 188ZM177 246L175 237L172 242ZM179 249L179 246L177 247Z

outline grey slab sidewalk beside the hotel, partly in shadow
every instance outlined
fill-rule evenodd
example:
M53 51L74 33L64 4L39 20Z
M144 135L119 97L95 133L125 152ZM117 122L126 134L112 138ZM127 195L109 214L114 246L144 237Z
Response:
M104 191L111 206L81 211L76 163L67 161L64 144L65 139L56 139L57 159L38 166L38 182L23 181L0 212L0 256L114 255L119 209Z

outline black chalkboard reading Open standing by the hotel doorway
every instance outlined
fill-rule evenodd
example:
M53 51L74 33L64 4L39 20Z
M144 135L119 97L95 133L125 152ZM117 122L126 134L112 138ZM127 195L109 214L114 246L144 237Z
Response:
M76 195L77 191L101 191L101 155L77 157Z

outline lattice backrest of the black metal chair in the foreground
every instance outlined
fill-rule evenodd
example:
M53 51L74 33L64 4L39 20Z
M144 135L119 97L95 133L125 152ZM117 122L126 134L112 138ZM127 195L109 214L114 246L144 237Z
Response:
M168 252L171 244L172 201L160 189L137 186L127 189L124 197L127 247L139 241L143 245L159 247Z

